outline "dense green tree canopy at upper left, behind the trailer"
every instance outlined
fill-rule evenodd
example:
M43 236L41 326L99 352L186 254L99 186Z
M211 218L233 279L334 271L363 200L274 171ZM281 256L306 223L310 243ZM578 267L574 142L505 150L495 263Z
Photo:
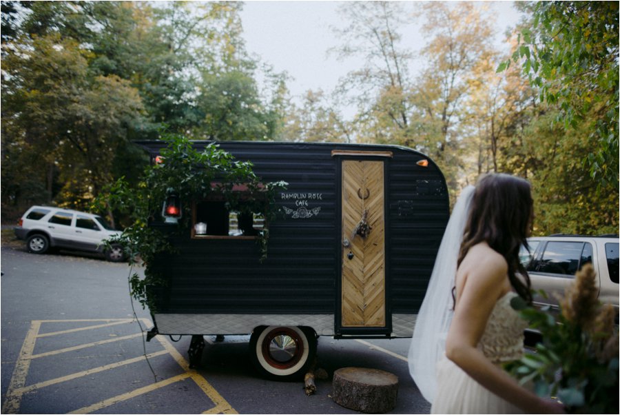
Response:
M15 179L3 207L85 207L106 183L135 182L144 156L131 141L162 130L277 136L285 77L245 51L241 8L3 1L2 174Z

